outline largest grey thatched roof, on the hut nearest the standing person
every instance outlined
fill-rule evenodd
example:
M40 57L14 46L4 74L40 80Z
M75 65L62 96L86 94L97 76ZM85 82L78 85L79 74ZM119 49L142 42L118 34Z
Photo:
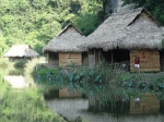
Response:
M86 37L82 49L161 49L163 27L145 9L116 13Z

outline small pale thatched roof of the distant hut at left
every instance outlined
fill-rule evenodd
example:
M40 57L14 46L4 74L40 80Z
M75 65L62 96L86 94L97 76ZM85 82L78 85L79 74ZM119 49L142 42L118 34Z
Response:
M28 45L13 46L4 57L38 57L39 54L33 50Z

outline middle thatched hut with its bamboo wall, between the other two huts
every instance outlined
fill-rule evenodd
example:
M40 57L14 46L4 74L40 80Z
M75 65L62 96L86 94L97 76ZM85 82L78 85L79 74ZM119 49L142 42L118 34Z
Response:
M84 42L85 37L73 26L68 25L58 36L44 47L44 53L48 53L48 62L52 65L82 65L86 62L86 52L82 52L78 45Z

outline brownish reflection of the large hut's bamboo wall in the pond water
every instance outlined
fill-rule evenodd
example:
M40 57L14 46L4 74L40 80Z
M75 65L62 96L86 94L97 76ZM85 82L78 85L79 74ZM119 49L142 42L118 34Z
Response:
M130 97L130 113L157 113L160 100L153 94L144 94L140 98L140 106L136 107L134 97Z

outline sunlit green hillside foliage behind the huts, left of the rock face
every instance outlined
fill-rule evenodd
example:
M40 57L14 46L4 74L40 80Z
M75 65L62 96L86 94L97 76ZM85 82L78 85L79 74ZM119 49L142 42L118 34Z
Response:
M15 44L43 47L68 23L89 35L101 23L101 2L94 0L1 0L0 56Z

